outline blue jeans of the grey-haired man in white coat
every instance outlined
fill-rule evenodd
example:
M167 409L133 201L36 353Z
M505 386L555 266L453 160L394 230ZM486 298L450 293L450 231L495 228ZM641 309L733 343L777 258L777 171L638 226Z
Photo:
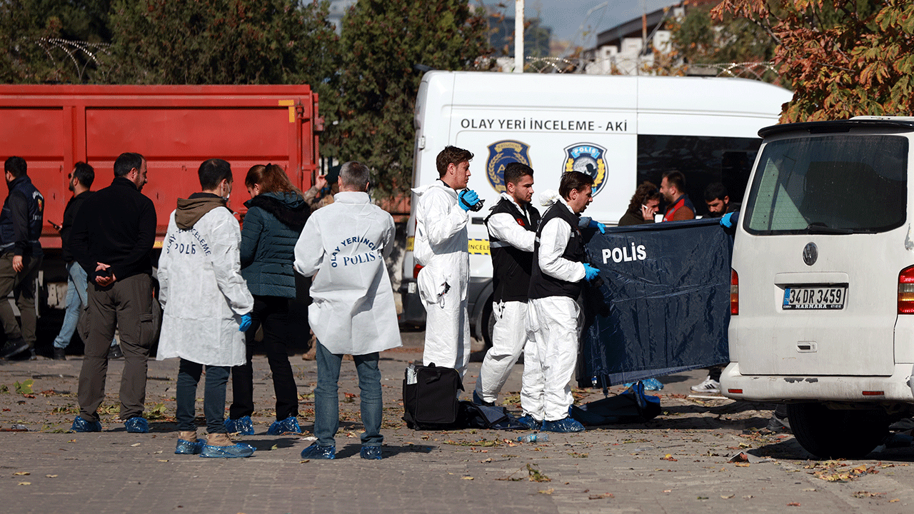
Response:
M314 435L321 446L335 445L334 436L339 430L339 392L340 365L343 356L330 353L324 345L317 342L317 388L314 390ZM381 435L381 371L377 369L378 352L366 355L354 355L358 373L358 389L361 391L362 444L380 446L384 442Z

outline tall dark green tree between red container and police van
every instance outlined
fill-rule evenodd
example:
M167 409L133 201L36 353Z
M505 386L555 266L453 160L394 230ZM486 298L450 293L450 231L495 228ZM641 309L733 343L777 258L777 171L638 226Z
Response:
M412 179L414 66L473 69L489 52L484 12L465 0L359 0L341 43L337 155L369 166L383 196L402 195Z

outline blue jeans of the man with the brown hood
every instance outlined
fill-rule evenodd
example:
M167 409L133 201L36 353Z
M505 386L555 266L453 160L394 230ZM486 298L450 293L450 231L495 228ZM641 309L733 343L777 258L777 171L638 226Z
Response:
M222 422L226 412L226 384L230 366L207 366L207 384L203 392L203 414L207 418L207 434L225 434L226 427ZM175 419L177 429L184 432L197 430L194 424L195 403L197 402L197 384L203 373L203 364L181 359L177 371L177 388L175 402L177 409Z

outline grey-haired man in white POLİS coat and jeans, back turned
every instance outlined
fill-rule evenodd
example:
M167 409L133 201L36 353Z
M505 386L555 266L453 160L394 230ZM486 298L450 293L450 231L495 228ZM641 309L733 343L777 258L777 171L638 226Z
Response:
M295 244L295 271L314 275L308 320L317 336L314 436L304 459L333 459L339 428L337 396L345 354L356 361L361 391L364 459L381 458L379 353L400 346L393 288L384 259L393 249L394 220L371 204L368 168L350 161L340 169L334 203L315 210ZM316 273L316 274L315 274Z

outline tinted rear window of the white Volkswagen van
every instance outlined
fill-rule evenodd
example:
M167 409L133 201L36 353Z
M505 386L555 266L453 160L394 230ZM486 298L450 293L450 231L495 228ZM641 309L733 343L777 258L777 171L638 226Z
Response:
M765 145L743 226L749 233L876 233L901 226L908 139L824 135Z

